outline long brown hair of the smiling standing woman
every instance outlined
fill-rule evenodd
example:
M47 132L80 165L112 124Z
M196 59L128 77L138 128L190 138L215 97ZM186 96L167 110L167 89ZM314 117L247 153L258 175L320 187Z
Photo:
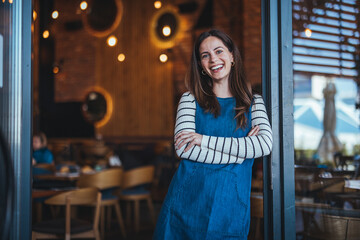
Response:
M199 48L200 44L210 36L219 38L233 54L235 65L230 71L229 88L231 94L236 99L235 118L237 127L245 128L247 125L245 113L250 109L253 96L245 79L240 51L226 33L219 30L210 30L200 34L195 42L189 72L185 78L186 87L195 96L200 107L206 112L214 114L215 117L219 116L220 105L213 92L213 80L207 74L201 73L202 66Z

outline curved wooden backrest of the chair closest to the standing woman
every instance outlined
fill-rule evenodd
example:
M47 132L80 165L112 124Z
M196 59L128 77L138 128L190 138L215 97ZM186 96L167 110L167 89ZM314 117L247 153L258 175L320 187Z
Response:
M154 180L154 166L145 166L125 171L123 174L122 188L131 188L142 184L152 183Z

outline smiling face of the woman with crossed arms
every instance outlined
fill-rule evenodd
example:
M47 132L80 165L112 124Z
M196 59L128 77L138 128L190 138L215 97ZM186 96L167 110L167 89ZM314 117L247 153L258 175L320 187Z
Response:
M228 81L233 54L217 37L207 37L199 47L199 55L203 70L214 81Z

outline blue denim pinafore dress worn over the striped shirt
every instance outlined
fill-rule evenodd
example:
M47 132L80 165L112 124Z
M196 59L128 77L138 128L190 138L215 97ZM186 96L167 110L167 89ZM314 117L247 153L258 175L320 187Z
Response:
M218 98L217 118L196 106L196 132L210 136L244 137L251 129L236 129L235 99ZM253 159L242 164L204 164L182 160L163 203L153 239L246 240L250 225Z

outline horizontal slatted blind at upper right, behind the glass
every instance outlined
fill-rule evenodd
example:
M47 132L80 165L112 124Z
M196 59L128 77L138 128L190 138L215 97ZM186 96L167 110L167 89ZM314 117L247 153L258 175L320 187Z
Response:
M294 73L360 75L360 0L293 0Z

